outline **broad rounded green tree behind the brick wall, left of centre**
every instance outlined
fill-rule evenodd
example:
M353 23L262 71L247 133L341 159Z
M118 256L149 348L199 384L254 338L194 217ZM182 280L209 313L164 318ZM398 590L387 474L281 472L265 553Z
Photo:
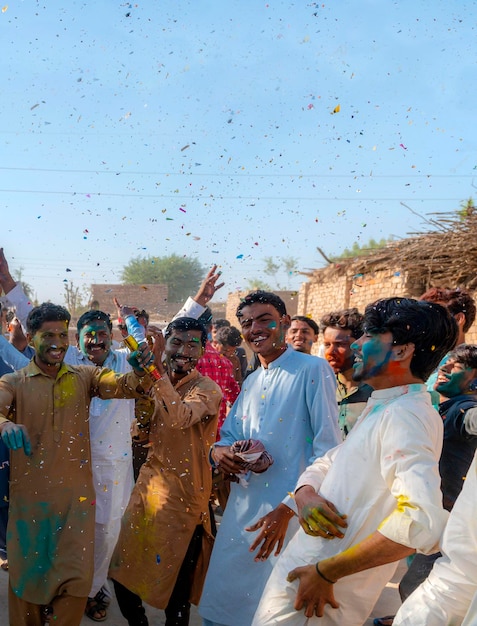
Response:
M171 254L131 259L123 267L121 280L131 285L167 285L169 302L182 302L197 291L204 274L197 259Z

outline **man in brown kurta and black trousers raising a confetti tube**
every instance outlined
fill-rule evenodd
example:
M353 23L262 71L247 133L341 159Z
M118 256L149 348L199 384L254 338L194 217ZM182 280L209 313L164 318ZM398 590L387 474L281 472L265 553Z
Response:
M165 609L166 624L188 624L190 602L202 589L212 542L208 454L222 398L195 369L206 338L200 322L178 318L165 333L166 368L156 357L163 376L154 384L149 453L110 568L121 612L134 626L148 623L141 600ZM158 333L156 344L161 339Z

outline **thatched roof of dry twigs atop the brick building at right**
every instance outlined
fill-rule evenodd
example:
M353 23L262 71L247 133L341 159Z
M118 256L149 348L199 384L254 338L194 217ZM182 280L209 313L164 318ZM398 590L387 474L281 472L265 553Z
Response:
M407 239L392 241L369 254L340 259L327 267L307 272L315 280L332 280L343 274L365 274L379 270L406 272L413 283L424 288L460 286L477 288L477 210L468 206L463 212L434 214L427 219L432 228L425 233L410 233Z

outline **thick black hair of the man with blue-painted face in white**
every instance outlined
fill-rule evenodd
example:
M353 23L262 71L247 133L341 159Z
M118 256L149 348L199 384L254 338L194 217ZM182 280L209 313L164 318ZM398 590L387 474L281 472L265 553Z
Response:
M368 304L363 329L372 335L390 332L395 345L414 344L411 373L427 380L457 341L458 328L440 304L412 298L384 298Z

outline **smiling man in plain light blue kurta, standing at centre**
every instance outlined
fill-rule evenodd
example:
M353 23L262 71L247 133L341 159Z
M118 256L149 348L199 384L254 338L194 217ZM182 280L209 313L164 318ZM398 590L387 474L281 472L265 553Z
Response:
M235 441L258 439L274 463L266 472L241 475L242 483L231 485L199 607L205 623L250 626L276 556L266 558L268 546L253 554L257 536L246 528L262 520L266 543L267 526L270 534L275 528L266 516L284 503L281 510L292 517L286 544L298 527L289 492L310 460L341 439L333 371L324 359L287 349L286 323L281 332L282 316L266 302L243 308L246 317L254 318L254 329L258 327L251 331L243 324L242 332L252 349L260 350L261 366L245 379L217 446L228 449Z

